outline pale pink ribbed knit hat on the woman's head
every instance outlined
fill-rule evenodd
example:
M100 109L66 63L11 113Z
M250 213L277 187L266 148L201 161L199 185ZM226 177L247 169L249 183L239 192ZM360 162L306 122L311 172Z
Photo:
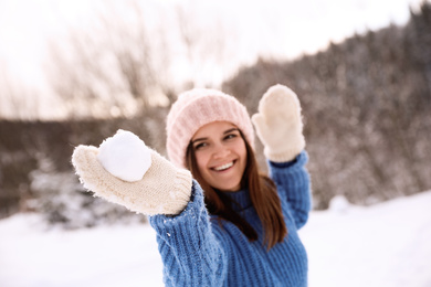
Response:
M187 147L196 131L212 121L230 121L254 148L254 131L249 113L236 98L217 89L195 88L179 95L167 119L167 151L170 161L186 167Z

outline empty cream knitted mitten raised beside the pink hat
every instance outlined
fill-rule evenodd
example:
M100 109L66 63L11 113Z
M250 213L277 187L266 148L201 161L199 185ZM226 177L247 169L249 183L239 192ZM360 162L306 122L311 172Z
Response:
M252 121L271 161L291 161L305 148L299 99L288 87L270 87Z

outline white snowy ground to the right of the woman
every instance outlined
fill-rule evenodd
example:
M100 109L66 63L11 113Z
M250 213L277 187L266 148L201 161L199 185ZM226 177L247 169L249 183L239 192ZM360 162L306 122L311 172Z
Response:
M431 191L313 212L301 231L309 286L431 286Z

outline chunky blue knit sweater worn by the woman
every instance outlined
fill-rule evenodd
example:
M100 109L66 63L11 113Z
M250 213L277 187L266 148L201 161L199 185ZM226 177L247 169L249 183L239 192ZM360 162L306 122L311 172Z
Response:
M286 238L269 252L249 191L229 193L236 211L255 228L249 242L232 223L209 215L193 181L189 204L177 216L150 216L164 262L166 286L307 286L307 255L297 234L311 209L309 176L303 151L292 164L269 162L287 226Z

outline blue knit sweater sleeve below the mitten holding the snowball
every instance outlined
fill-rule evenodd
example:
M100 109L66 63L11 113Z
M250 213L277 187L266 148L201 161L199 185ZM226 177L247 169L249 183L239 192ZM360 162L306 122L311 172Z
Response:
M222 286L227 257L216 238L203 203L202 189L193 180L191 199L176 216L154 215L166 286Z

